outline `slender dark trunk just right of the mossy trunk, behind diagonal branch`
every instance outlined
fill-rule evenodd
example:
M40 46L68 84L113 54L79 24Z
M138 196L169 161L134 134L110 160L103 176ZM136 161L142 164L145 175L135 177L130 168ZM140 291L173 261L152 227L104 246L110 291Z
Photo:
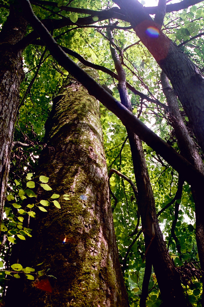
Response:
M111 30L108 29L108 37L113 41ZM119 94L121 103L132 111L130 99L126 87L126 76L121 65L119 55L111 47L111 55L114 60L115 68L119 76ZM157 219L155 201L152 186L145 161L141 139L129 129L127 135L130 142L132 160L134 166L135 180L138 190L138 211L141 215L142 231L145 238L145 251L148 256L146 276L142 285L142 301L140 306L145 306L148 294L148 275L151 276L151 266L157 276L159 289L165 306L187 306L180 276L176 272L171 257L164 243L163 235ZM150 273L149 273L150 272ZM165 283L164 283L165 280Z

